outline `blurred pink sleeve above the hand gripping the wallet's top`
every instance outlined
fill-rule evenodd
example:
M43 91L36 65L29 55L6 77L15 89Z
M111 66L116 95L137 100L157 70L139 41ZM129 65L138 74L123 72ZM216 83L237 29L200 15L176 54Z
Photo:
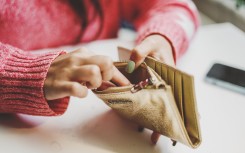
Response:
M197 9L191 0L123 0L121 3L123 19L132 22L138 32L137 42L151 34L160 34L169 40L175 60L186 51L199 26Z

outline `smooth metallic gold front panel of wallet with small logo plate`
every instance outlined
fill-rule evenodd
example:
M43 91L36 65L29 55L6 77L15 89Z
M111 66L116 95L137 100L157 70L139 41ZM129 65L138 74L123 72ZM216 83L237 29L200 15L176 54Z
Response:
M186 137L170 86L142 89L136 93L95 93L123 117L192 147Z

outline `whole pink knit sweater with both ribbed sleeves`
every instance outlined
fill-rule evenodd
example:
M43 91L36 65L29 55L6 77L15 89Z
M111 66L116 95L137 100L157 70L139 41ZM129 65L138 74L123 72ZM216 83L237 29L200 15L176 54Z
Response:
M151 34L167 37L177 59L198 27L190 0L100 0L100 18L84 0L88 25L68 0L0 1L0 113L63 114L69 97L47 101L44 80L52 61L65 52L33 55L28 50L117 36L120 21L131 22L140 42Z

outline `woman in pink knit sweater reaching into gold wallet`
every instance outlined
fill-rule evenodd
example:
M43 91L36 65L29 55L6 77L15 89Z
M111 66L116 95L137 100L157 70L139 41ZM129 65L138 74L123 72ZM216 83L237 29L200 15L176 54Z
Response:
M114 38L121 21L132 23L138 33L131 55L136 66L148 55L174 65L198 27L190 0L2 0L0 112L61 115L69 96L83 98L103 81L129 84L109 57L86 48L67 54L28 52Z

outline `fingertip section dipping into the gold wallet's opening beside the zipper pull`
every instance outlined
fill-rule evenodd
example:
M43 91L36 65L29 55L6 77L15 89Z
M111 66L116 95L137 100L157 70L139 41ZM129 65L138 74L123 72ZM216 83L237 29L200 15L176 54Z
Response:
M131 84L130 81L115 66L113 66L113 69L113 83L115 83L117 86L127 86Z

